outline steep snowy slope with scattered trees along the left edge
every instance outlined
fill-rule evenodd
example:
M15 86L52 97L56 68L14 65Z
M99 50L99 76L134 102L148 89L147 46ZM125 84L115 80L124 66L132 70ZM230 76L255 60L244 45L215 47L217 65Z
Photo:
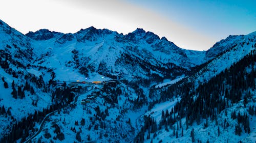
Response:
M0 116L1 128L0 134L9 131L9 124L20 121L26 117L28 113L34 113L35 110L47 108L51 103L50 94L45 93L37 87L35 80L39 79L39 72L35 70L27 70L34 59L33 47L31 39L22 33L17 32L6 23L0 20L0 53L1 53L1 68L0 77L8 84L8 88L4 87L4 82L1 81L0 90L0 106L10 109L10 115L5 118ZM36 75L34 75L36 73ZM47 74L47 71L45 71ZM12 82L14 88L18 91L18 87L24 87L26 81L30 84L30 89L34 91L32 94L29 91L24 91L25 98L13 98L11 94ZM23 89L23 88L22 88ZM20 94L20 93L17 93ZM32 103L36 105L32 105ZM6 120L7 119L7 120Z

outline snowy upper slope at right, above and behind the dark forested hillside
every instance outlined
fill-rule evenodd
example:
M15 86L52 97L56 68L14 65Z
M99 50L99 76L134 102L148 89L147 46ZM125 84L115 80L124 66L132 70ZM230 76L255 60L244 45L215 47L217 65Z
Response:
M233 39L231 40L231 38ZM196 85L198 83L208 81L211 77L216 76L220 72L224 71L226 68L243 59L245 55L255 50L255 43L256 32L245 36L229 36L227 39L217 42L217 44L215 45L218 45L218 47L225 47L226 51L223 54L214 58L204 68L199 70L193 77L191 77L195 79L191 80L195 80ZM230 45L231 48L227 48ZM209 49L209 52L211 52L210 50L214 49Z

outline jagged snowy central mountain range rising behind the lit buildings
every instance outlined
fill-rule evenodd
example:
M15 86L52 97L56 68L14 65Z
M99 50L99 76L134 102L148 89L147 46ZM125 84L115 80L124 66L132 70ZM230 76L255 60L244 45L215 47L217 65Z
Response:
M125 78L123 75L148 78L147 76L152 73L164 77L170 74L163 75L161 68L165 70L171 70L176 66L189 68L205 62L203 59L200 62L195 61L202 52L188 52L190 57L188 59L186 50L180 49L166 38L160 39L155 34L142 29L127 35L105 29L97 30L94 27L81 29L75 34L39 30L26 35L36 40L32 42L37 54L33 64L46 67L58 65L59 67L55 67L58 70L72 67L76 71L56 72L68 72L77 78L80 77L77 69L84 68L88 69L82 72L86 76L90 72L97 71L105 76L111 74L120 78Z

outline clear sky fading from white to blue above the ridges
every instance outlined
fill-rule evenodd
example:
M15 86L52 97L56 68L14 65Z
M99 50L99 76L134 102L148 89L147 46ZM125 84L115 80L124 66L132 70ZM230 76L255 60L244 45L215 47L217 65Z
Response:
M1 0L0 19L23 34L94 26L127 34L137 27L181 48L207 50L229 35L256 31L256 1Z

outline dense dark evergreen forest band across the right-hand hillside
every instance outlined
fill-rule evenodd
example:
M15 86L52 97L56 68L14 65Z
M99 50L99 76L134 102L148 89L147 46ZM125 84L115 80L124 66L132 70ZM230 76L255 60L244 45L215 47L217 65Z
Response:
M221 111L241 99L244 99L244 106L246 107L248 99L252 96L250 90L255 90L256 73L253 68L256 61L255 54L256 50L251 51L239 62L225 69L225 71L209 81L200 84L196 90L195 83L188 81L188 79L183 79L170 85L166 90L162 90L159 98L150 102L148 109L153 108L156 103L172 101L177 96L181 96L181 100L176 103L170 112L167 110L162 111L162 119L159 124L151 117L144 117L144 126L136 136L135 142L143 142L146 131L154 133L154 136L156 136L156 131L162 129L162 127L165 130L174 130L175 135L179 129L173 129L172 125L176 122L177 127L180 127L182 130L180 132L183 132L183 128L187 129L195 121L200 124L201 119L206 119L207 121L210 118L210 120L217 121L217 115ZM154 95L157 93L156 91L156 89L151 89L150 97L156 97ZM254 108L249 106L250 115L253 115L254 112L256 113L256 108L255 110ZM244 127L245 132L250 133L247 113L236 113L233 111L231 117L233 120L237 119L238 123L235 131L237 135L241 135L242 127ZM178 126L178 122L182 118L186 119L186 127L182 127L181 124ZM224 123L224 126L228 125L228 122ZM204 126L207 127L208 123L204 123ZM191 132L192 138L193 134ZM147 135L147 139L149 138L150 134Z

